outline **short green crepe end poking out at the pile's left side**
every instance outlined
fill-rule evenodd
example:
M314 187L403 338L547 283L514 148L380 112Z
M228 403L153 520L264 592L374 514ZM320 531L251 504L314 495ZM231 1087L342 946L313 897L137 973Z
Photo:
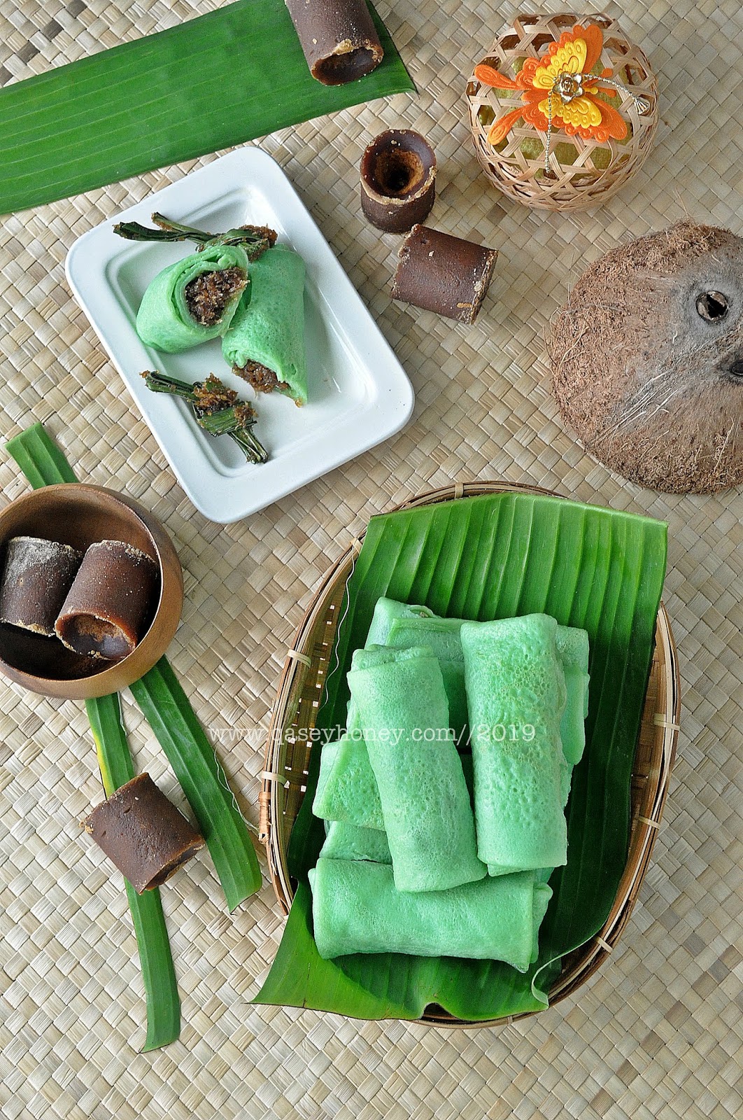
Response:
M361 738L345 735L323 746L312 812L328 821L384 831L377 780Z

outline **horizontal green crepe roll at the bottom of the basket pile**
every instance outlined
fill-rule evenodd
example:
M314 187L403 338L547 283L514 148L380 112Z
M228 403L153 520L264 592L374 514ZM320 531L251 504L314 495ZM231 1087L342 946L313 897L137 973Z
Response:
M486 878L450 890L398 890L388 865L319 859L310 871L320 956L412 953L506 961L526 972L535 926L552 895L534 872Z

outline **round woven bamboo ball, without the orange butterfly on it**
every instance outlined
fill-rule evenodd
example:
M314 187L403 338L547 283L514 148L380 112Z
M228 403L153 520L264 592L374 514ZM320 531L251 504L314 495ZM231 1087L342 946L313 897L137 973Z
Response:
M658 124L658 90L650 63L623 34L615 19L605 15L523 15L514 20L480 59L506 77L515 78L525 59L544 57L549 44L576 24L596 24L603 31L600 65L610 67L624 90L610 99L628 125L623 140L583 139L553 130L549 142L549 176L545 174L547 133L526 121L517 121L495 147L488 141L493 121L520 104L520 92L496 90L474 74L467 85L467 101L474 152L488 179L509 198L526 206L553 211L598 206L615 194L645 162ZM546 94L545 94L546 95ZM640 114L636 97L648 102Z

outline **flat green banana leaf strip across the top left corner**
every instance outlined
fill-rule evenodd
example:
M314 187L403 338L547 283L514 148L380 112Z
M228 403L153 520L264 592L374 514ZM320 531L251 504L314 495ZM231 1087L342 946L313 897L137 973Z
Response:
M311 77L283 0L238 0L0 92L0 213L66 198L415 90L372 9L382 64Z

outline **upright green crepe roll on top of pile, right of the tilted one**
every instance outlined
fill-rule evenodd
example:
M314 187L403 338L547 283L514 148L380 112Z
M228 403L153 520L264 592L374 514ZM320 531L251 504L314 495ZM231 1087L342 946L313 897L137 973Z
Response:
M525 615L461 629L478 855L491 875L567 862L556 628Z

